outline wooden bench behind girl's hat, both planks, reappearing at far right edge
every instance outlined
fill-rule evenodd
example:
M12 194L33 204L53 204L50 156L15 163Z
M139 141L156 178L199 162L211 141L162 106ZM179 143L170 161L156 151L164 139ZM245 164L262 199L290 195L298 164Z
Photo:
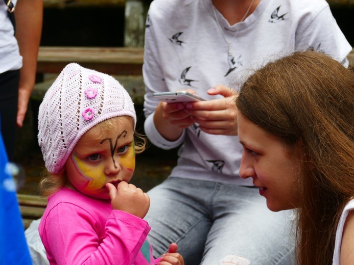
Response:
M348 55L349 67L354 68L354 48ZM126 47L40 47L37 73L55 73L69 63L76 62L83 67L113 75L129 92L134 103L144 102L144 81L142 67L143 48ZM31 98L42 100L57 75L37 83Z

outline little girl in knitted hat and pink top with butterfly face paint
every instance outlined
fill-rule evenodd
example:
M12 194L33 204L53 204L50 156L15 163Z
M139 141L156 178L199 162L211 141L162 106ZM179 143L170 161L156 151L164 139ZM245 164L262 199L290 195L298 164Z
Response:
M152 256L143 220L150 199L129 184L135 152L145 147L135 123L119 82L78 64L67 65L45 94L38 142L48 170L40 189L49 199L39 234L50 264L184 264L176 244Z

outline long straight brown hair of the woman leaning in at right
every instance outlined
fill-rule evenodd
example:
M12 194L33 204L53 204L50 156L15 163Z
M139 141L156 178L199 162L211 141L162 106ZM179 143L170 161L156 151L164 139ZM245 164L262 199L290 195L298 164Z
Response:
M354 73L315 51L256 70L237 107L286 146L302 141L297 263L332 264L337 224L354 195Z

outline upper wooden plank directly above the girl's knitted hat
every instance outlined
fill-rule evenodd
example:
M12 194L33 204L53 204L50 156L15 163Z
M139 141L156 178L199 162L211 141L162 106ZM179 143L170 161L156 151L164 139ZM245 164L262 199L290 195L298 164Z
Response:
M60 73L68 63L108 74L140 75L144 48L128 47L39 47L37 72Z

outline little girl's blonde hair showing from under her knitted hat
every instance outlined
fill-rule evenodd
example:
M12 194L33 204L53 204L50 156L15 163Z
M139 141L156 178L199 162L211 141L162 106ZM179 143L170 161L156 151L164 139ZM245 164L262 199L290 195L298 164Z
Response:
M133 118L129 116L119 116L104 120L97 124L94 128L99 128L100 134L97 135L98 138L104 136L105 131L111 130L119 122L121 118L127 118L131 120L132 124L134 122ZM134 148L135 153L139 154L143 152L146 148L147 140L146 137L134 131ZM42 179L39 182L39 192L44 197L48 197L57 191L59 191L63 186L68 183L67 176L64 170L58 174L51 174L48 170L43 170Z

